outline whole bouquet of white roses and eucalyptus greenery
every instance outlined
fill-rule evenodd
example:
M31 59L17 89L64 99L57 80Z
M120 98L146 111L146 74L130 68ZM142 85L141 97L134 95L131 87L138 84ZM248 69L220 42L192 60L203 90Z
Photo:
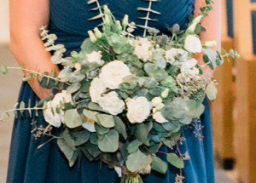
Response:
M63 128L54 138L70 166L84 154L90 161L108 163L122 177L121 182L143 182L140 174L149 174L151 169L165 174L167 164L156 156L160 146L176 146L182 138L180 129L204 112L205 95L209 100L216 97L215 83L202 67L213 70L224 57L239 57L233 50L222 50L221 55L210 49L215 41L201 45L198 34L205 30L200 23L212 9L211 3L207 0L207 7L190 21L187 30L180 30L178 25L169 28L171 37L158 36L157 29L147 26L148 20L141 26L144 36L134 37L137 26L129 23L128 15L121 23L104 6L99 16L102 31L89 31L90 38L81 45L81 51L73 51L67 58L63 58L64 45L55 45L57 37L43 26L46 50L54 52L51 61L63 69L58 76L20 69L32 73L27 78L36 75L42 87L57 92L33 108L21 102L5 114L43 110L49 126L36 129L34 136L50 134L53 127ZM204 66L193 58L201 52ZM2 72L12 68L3 66ZM168 153L166 158L183 169L189 155ZM182 179L179 174L176 182Z

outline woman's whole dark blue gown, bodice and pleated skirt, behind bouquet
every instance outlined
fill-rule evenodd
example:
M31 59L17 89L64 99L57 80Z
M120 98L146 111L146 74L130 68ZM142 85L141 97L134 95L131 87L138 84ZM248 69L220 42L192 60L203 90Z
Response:
M67 48L65 56L70 51L79 51L80 44L87 37L87 31L93 29L101 23L101 20L88 21L91 17L98 14L97 11L90 11L96 7L96 3L87 4L85 0L49 0L50 2L50 20L49 31L55 33L58 37L56 43L63 43ZM108 3L109 9L117 20L122 20L124 14L130 15L130 20L143 25L143 20L137 20L137 17L143 17L145 12L137 11L137 7L148 7L147 1L142 0L100 0L101 4ZM161 14L150 14L151 18L156 18L158 22L149 22L149 26L160 29L166 33L166 25L172 26L175 23L182 28L187 26L189 14L193 14L195 0L161 0L160 3L153 3L152 9L160 11ZM135 34L142 35L143 30L137 29ZM22 83L20 89L19 101L24 101L26 105L29 100L35 104L38 97L28 83ZM203 140L195 137L195 128L183 127L182 134L185 137L183 145L179 145L182 153L189 152L190 160L185 161L183 183L213 183L213 158L212 158L212 129L210 112L207 100L204 101L206 111L201 116L201 123L195 123L197 128L203 125L201 135ZM43 125L44 117L39 112L36 117L32 112L32 118L37 121L36 125ZM64 155L59 150L56 140L50 140L49 143L37 150L38 146L44 144L49 137L41 137L35 140L32 136L32 129L35 124L28 112L15 119L13 136L11 140L11 149L9 155L8 183L119 183L118 175L113 169L108 169L108 165L99 162L90 163L86 157L82 157L80 168L76 163L73 168L69 168ZM54 134L58 134L60 129L54 129ZM170 152L166 146L160 148L160 152ZM172 152L176 150L172 150ZM166 161L165 154L158 154L160 158ZM175 175L179 170L169 164L166 174L160 174L152 171L151 174L143 175L144 183L174 183Z

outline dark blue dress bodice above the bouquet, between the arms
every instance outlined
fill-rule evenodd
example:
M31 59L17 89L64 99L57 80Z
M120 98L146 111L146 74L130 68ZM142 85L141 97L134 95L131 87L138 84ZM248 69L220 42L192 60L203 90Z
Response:
M87 31L102 23L102 19L89 20L99 14L99 11L91 11L96 8L96 3L87 4L87 0L50 0L49 31L58 37L58 43L64 43L67 49L77 49L88 37ZM148 8L148 1L143 0L99 0L101 5L108 4L117 20L122 20L125 14L129 20L137 25L144 25L144 20L137 17L145 17L147 12L137 11L138 7ZM151 9L160 14L150 13L150 18L158 21L149 21L148 26L155 27L166 33L166 26L179 24L182 28L187 26L189 14L193 13L195 0L161 0L153 2ZM142 36L143 29L137 28L135 35Z

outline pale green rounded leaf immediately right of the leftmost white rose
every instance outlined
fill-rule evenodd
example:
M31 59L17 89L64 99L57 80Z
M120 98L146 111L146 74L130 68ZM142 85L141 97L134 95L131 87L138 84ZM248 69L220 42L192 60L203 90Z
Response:
M79 127L83 124L83 121L82 121L77 109L67 110L64 118L65 118L65 123L66 123L67 127L71 128L71 129Z

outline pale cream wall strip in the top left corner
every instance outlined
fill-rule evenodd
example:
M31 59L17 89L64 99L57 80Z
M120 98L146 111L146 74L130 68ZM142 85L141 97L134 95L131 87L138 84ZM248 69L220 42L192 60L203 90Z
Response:
M0 0L0 43L9 43L9 0Z

